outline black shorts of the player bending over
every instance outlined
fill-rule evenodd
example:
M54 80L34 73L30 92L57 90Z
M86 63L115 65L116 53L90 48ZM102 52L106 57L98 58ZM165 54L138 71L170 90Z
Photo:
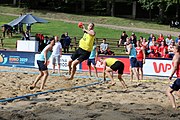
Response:
M121 61L116 61L111 67L110 67L113 71L117 71L118 70L118 74L123 74L124 71L124 63L122 63Z

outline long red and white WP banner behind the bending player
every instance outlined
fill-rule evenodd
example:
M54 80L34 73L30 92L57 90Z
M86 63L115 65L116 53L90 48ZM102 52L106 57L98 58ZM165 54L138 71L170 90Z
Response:
M111 57L114 57L114 56L111 56ZM117 56L114 58L121 60L125 64L124 73L129 74L130 73L129 58L122 57L122 56L120 56L120 58L118 58ZM102 72L103 66L100 64L100 62L97 62L96 67L97 67L98 72ZM144 75L169 76L171 74L172 68L173 68L172 60L147 58L146 63L143 66L143 71L144 71ZM81 69L84 71L88 70L87 61L82 62Z

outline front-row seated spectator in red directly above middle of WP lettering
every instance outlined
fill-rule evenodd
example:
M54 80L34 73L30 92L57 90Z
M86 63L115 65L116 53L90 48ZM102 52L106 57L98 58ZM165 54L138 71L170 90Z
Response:
M165 41L161 42L161 46L159 47L159 54L161 58L167 58L168 54L168 46L165 44Z

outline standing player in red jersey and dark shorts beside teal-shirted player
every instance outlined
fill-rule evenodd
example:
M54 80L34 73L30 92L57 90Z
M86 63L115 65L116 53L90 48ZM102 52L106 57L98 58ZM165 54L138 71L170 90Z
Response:
M143 64L145 63L145 51L144 51L144 47L141 46L141 42L138 40L136 42L137 47L136 47L136 59L137 59L137 67L138 67L138 75L140 80L143 80Z

